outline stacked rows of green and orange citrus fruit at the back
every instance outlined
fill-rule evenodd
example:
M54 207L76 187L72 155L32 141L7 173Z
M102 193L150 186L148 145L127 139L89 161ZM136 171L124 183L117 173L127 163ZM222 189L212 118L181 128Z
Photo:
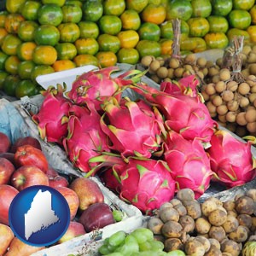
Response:
M255 0L6 0L0 13L0 90L38 93L40 74L93 64L137 64L180 49L224 49L234 35L256 42Z

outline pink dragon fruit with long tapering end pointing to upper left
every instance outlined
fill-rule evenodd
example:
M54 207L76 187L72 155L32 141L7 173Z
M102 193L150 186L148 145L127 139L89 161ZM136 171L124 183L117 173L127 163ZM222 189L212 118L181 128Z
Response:
M177 92L169 94L142 83L132 84L131 89L142 94L147 102L160 109L166 118L168 129L177 131L186 139L193 140L197 137L204 143L210 141L218 124L211 118L200 96Z

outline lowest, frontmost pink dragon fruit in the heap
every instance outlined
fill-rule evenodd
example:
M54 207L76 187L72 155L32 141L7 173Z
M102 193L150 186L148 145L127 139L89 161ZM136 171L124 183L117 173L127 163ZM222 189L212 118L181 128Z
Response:
M122 167L119 197L142 212L150 214L173 198L175 182L165 161L130 158L125 166L116 169L119 167Z

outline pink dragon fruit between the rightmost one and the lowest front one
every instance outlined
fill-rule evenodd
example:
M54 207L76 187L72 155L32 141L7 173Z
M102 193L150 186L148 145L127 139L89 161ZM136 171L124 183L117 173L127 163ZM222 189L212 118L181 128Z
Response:
M199 198L209 188L213 172L200 140L186 140L177 132L170 131L164 157L177 190L193 189L195 198Z

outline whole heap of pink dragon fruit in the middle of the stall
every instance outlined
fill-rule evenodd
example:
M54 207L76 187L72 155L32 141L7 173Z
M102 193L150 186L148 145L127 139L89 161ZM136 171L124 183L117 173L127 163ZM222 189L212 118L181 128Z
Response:
M60 144L85 177L98 175L146 214L178 189L193 189L199 198L212 182L231 188L256 177L252 142L218 128L194 75L156 90L142 82L141 71L113 78L117 71L83 73L70 91L49 86L32 117L42 139ZM137 99L124 97L126 89Z

